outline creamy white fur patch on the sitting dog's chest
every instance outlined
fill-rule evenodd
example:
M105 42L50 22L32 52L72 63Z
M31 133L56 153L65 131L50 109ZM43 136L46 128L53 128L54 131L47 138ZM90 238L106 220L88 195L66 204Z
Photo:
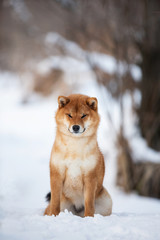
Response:
M59 151L56 151L56 146ZM65 144L60 139L56 139L51 164L56 166L61 174L67 171L70 178L76 178L95 168L98 161L97 155L96 139L88 141L86 138L78 140L69 138Z

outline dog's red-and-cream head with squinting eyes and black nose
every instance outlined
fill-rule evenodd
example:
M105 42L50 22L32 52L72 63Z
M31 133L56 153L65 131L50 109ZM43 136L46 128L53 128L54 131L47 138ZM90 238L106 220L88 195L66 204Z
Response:
M56 123L58 130L69 136L95 134L99 124L97 99L80 94L59 96Z

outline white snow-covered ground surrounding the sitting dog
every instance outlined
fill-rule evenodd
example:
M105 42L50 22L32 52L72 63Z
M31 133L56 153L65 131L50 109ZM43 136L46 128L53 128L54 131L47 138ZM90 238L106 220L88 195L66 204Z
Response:
M98 140L106 161L104 185L113 198L113 214L80 218L69 212L43 216L49 186L49 157L55 136L57 100L35 97L23 104L23 88L16 77L0 75L0 239L160 239L160 201L126 195L115 185L115 131L104 111L104 93L81 81L81 93L97 96L101 124ZM109 98L106 98L109 101ZM104 101L104 102L103 102ZM127 100L128 101L128 100ZM112 105L111 105L112 104ZM117 108L112 107L114 118ZM129 116L129 115L127 115ZM126 133L127 134L127 133Z

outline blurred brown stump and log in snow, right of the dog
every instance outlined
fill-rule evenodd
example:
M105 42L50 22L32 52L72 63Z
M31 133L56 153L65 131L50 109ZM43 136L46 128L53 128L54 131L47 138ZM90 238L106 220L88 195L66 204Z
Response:
M160 198L160 164L134 162L127 139L118 136L117 185L125 192L136 191L139 195Z

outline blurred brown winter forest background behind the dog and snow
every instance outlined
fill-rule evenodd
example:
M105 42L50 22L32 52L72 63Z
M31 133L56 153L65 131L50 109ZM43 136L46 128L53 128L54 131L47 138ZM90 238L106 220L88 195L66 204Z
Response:
M93 59L95 52L100 55ZM115 67L103 67L99 56L104 65L110 57ZM123 121L123 96L137 90L140 103L133 97L132 107L140 135L160 151L160 1L0 0L0 70L20 76L24 104L34 92L70 94L65 70L51 64L53 57L87 62L99 86L119 103L117 184L126 192L160 198L160 159L133 159Z

